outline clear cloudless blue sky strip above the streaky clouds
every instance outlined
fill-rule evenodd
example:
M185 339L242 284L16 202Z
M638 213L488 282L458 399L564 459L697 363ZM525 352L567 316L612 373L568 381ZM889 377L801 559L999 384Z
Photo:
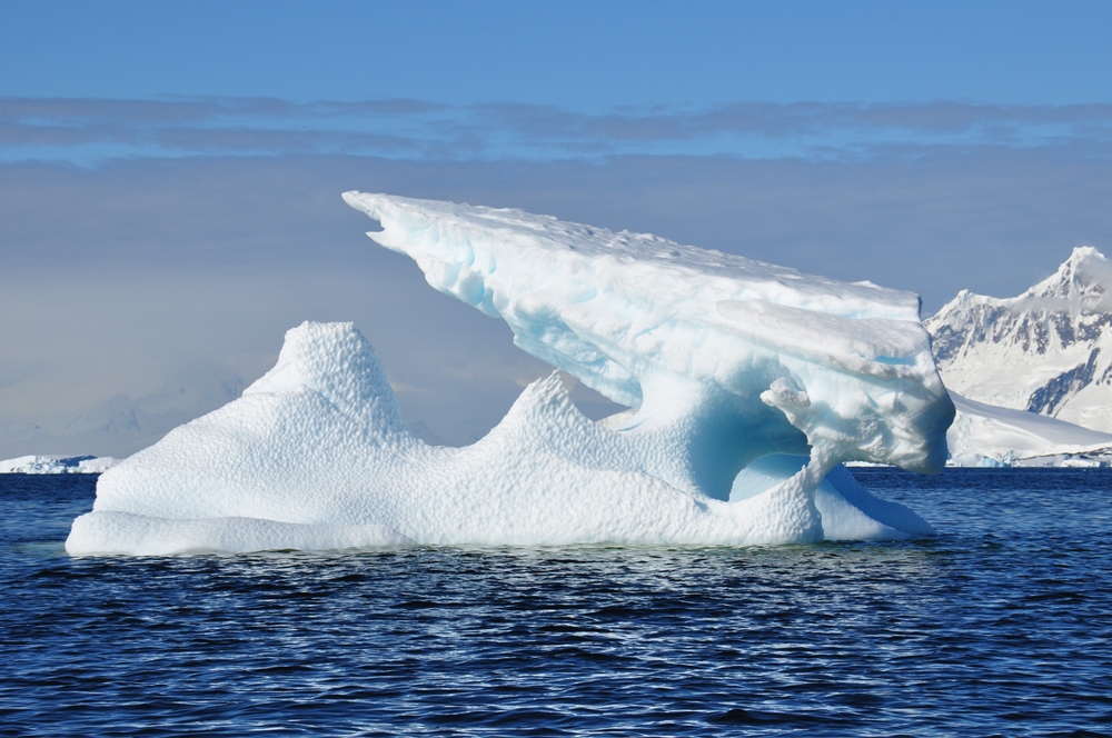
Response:
M6 2L8 96L1106 102L1106 2Z

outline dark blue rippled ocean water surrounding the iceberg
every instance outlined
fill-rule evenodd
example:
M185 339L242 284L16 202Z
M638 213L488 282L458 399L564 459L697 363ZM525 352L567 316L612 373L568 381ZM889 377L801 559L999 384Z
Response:
M0 731L1112 735L1112 470L855 473L940 535L71 559L0 476Z

